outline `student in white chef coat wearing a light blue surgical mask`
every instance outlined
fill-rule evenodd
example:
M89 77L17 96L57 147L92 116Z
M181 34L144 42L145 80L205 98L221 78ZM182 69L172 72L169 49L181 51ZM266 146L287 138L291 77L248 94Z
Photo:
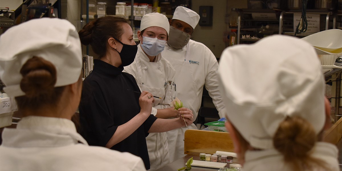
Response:
M138 39L140 45L134 62L124 67L124 72L134 76L142 91L148 91L155 98L152 114L158 118L179 117L180 108L174 110L171 102L176 96L175 70L160 54L169 35L168 18L160 13L146 14L141 19ZM154 171L170 163L166 132L149 133L146 137L150 169Z

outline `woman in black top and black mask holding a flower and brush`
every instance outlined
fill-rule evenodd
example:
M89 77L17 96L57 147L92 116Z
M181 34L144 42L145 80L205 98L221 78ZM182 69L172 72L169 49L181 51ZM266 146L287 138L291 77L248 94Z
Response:
M134 61L137 44L127 20L105 16L79 31L81 43L90 44L98 56L94 69L83 82L80 110L82 135L89 145L105 146L140 156L150 168L145 137L192 123L191 110L183 117L157 119L151 114L153 95L139 91L134 77L122 72Z

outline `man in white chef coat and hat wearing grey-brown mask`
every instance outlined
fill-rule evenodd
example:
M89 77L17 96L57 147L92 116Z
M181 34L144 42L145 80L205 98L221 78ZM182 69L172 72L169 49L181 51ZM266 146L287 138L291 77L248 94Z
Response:
M176 70L177 97L185 107L193 111L193 120L197 118L201 105L203 86L206 86L220 116L224 116L224 106L218 89L219 64L208 47L190 40L199 18L196 12L178 6L170 19L169 40L161 52ZM187 129L197 127L192 124L167 132L171 162L184 156L184 132Z

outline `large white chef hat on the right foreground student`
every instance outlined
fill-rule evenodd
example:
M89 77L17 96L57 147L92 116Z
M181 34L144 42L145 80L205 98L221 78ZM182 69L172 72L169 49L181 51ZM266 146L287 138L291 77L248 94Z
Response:
M252 147L272 148L287 116L306 119L316 134L323 129L325 81L304 40L277 35L227 48L218 72L226 115Z

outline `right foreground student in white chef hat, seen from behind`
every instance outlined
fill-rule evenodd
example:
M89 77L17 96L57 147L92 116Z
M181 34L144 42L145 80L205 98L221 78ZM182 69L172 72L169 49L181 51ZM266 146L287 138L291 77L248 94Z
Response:
M323 142L330 105L310 44L277 35L227 48L219 77L226 128L244 171L339 170L338 149Z

